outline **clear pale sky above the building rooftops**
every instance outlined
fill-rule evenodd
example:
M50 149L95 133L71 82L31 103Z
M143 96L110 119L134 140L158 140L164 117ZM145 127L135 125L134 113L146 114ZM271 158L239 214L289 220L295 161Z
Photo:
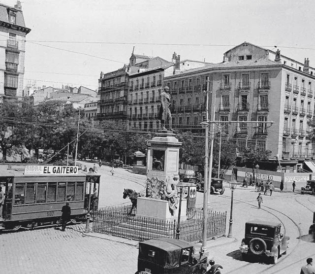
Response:
M0 0L14 6L16 0ZM314 0L22 0L24 86L96 89L136 54L219 63L244 41L315 67ZM314 63L313 63L314 62Z

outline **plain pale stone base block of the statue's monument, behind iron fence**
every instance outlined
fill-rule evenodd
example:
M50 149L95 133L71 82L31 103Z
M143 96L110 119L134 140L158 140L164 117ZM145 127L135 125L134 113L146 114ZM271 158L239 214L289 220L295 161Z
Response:
M178 207L172 216L169 211L168 201L139 197L137 199L136 217L151 218L156 221L174 221L178 219ZM187 200L182 200L181 221L186 221Z

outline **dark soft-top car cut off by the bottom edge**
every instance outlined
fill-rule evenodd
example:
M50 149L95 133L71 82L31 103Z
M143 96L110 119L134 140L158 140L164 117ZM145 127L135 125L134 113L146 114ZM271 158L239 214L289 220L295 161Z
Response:
M193 245L170 238L139 242L138 271L136 274L221 274L205 255L193 254Z

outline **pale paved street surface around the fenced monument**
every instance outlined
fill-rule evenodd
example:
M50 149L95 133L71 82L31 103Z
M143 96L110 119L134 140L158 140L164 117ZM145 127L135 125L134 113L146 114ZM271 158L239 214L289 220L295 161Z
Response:
M92 166L92 164L88 164ZM145 176L124 169L116 169L112 176L110 168L102 166L99 206L130 204L123 199L124 188L140 191ZM299 192L279 190L273 196L263 195L262 209L256 205L254 187L234 192L233 238L209 241L210 256L223 266L222 273L299 273L307 257L315 259L315 243L307 236L315 211L315 197ZM202 206L203 194L197 195L197 206ZM230 213L230 190L211 195L209 208ZM265 262L245 262L238 248L244 237L245 222L250 219L281 221L285 234L290 236L289 249L277 265ZM134 274L137 269L137 242L112 236L83 233L85 224L68 226L65 232L59 228L44 228L0 235L1 268L6 274L39 273L106 273ZM227 229L228 233L228 219ZM96 237L95 237L96 236ZM197 248L200 243L197 243Z

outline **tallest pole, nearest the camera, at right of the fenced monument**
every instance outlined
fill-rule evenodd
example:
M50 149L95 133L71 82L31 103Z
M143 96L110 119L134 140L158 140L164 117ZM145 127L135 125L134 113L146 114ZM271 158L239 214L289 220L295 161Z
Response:
M202 246L201 246L201 253L208 254L208 248L207 248L207 218L208 218L208 157L209 157L209 151L208 151L208 132L209 132L209 113L208 113L208 107L209 107L209 76L207 78L207 90L206 90L206 121L202 122L203 125L206 127L205 132L205 166L204 166L204 184L203 184L203 224L202 224Z

